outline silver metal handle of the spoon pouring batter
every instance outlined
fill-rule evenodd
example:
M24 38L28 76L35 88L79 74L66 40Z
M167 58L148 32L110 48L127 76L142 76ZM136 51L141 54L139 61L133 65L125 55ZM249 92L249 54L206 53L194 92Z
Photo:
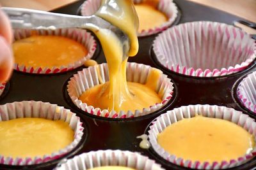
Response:
M10 18L13 28L22 29L58 29L69 27L85 27L93 17L81 17L47 11L29 10L24 8L1 8Z

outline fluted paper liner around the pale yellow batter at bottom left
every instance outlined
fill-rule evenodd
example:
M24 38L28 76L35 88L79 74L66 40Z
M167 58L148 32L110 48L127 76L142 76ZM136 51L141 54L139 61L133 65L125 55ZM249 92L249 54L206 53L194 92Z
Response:
M0 105L0 121L8 121L15 118L45 118L49 120L63 120L67 122L70 128L74 131L74 141L65 148L44 155L43 157L4 157L0 155L0 164L12 166L27 166L32 164L40 164L49 162L54 159L59 159L63 155L73 150L81 141L83 136L83 126L80 118L56 104L43 103L42 101L21 101Z

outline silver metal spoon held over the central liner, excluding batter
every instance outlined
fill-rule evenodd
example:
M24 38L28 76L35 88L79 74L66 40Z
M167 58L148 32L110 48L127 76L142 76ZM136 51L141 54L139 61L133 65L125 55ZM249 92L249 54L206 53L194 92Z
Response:
M118 27L112 25L103 18L92 16L67 15L51 13L47 11L29 10L24 8L1 8L10 18L14 29L60 29L60 28L81 28L90 29L99 27L109 29L120 39L123 46L123 60L127 59L127 52L130 49L129 38ZM95 30L92 30L95 31Z

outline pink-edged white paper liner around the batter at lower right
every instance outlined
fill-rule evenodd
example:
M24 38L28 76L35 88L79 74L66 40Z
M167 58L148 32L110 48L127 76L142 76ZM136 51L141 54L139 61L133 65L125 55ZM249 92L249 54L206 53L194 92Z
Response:
M191 118L195 117L196 115L202 115L203 117L210 118L220 118L233 122L252 134L254 136L254 141L256 141L255 120L250 118L248 115L243 114L241 111L236 111L233 108L227 108L224 106L213 106L208 104L189 105L167 111L167 113L162 114L161 116L157 117L154 122L152 122L148 130L148 138L156 153L163 157L163 159L168 160L173 164L193 169L227 169L244 164L244 162L247 162L256 155L256 146L254 146L251 153L245 154L243 157L232 159L230 161L223 160L222 162L212 163L198 161L193 162L192 160L185 160L180 157L176 157L172 153L166 152L164 148L157 143L157 135L163 132L168 125L172 125L183 118Z

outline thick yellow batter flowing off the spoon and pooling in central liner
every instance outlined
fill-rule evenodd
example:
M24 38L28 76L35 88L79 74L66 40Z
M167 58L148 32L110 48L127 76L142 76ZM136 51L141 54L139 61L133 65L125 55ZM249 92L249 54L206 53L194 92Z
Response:
M113 8L113 6L116 6ZM132 0L104 0L95 13L99 17L108 20L116 27L119 27L130 39L130 50L123 52L123 44L109 29L101 29L92 25L92 31L95 32L102 45L109 69L109 82L104 85L93 87L86 90L79 97L83 103L92 104L95 108L109 110L141 110L148 108L153 104L161 102L154 90L156 90L157 79L149 80L148 87L129 83L127 86L126 66L128 56L134 56L138 52L138 16L134 9ZM123 55L125 60L123 60ZM159 75L159 71L152 75ZM150 79L150 78L149 78ZM150 85L149 85L150 84ZM147 93L147 94L146 94Z

